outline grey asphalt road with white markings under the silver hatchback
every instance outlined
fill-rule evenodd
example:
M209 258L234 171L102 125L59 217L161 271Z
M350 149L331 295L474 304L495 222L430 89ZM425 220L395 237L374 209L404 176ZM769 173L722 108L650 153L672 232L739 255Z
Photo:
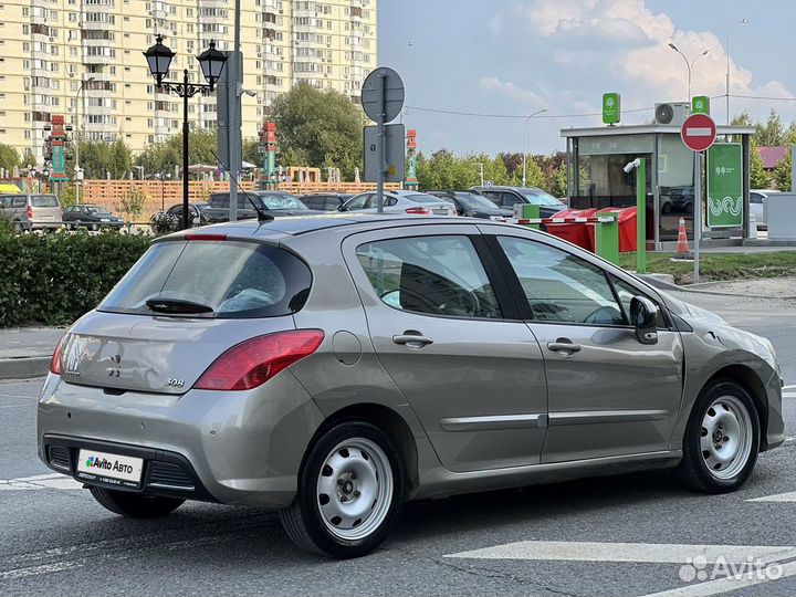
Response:
M796 384L796 304L682 297L767 335ZM0 384L3 596L796 595L793 439L762 454L731 495L689 493L651 472L417 502L375 554L334 562L295 548L268 512L187 504L160 521L112 515L39 462L40 386ZM687 564L694 557L696 567ZM730 566L743 573L748 558L776 564L722 579Z

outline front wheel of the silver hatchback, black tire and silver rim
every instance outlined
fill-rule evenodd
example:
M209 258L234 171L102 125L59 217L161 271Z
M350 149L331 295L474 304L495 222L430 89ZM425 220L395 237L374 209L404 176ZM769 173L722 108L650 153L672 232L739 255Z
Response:
M752 397L734 381L714 381L691 410L675 474L694 491L735 491L752 474L760 444L760 417Z

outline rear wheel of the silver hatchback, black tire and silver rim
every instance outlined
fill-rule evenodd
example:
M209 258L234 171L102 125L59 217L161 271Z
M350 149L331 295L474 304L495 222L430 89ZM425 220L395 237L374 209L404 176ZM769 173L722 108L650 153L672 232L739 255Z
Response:
M280 520L287 536L316 554L350 558L376 548L398 522L404 467L378 427L345 421L310 448L298 492Z

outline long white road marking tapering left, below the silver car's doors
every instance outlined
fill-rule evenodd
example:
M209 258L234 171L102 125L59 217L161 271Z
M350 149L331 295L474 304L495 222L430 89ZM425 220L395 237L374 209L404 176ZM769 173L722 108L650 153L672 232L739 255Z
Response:
M653 543L593 543L569 541L521 541L484 549L461 552L444 557L475 559L538 559L569 562L642 562L685 564L689 558L704 557L709 563L745 564L752 557L762 563L796 557L792 546L761 545L683 545Z

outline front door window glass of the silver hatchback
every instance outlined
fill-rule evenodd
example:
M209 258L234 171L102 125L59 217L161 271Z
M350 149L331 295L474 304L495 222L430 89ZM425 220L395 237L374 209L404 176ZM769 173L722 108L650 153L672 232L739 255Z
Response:
M591 325L628 325L603 270L565 251L498 237L531 304L533 318Z

